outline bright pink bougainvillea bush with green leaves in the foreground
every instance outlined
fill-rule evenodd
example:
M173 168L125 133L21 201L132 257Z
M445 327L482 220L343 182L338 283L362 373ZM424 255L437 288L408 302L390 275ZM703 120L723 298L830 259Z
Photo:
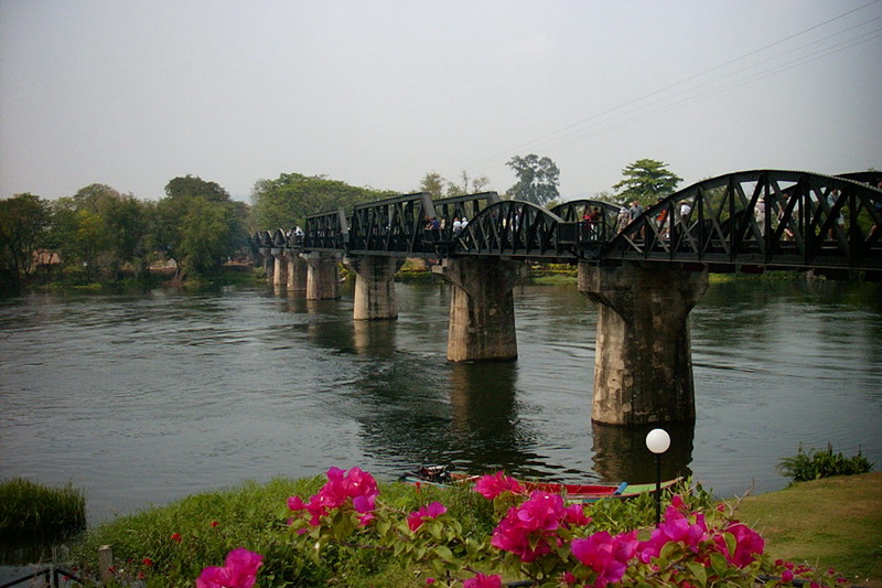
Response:
M502 472L480 479L474 490L490 500L498 524L490 536L463 533L438 501L416 511L383 504L374 478L358 468L332 468L309 501L288 500L292 538L320 560L330 546L375 549L421 570L417 584L501 588L506 581L535 587L753 586L795 579L833 586L830 574L771 562L763 538L733 518L730 509L699 510L675 495L653 530L611 533L599 528L591 504L567 505L541 490L529 495ZM205 568L197 588L251 588L261 565L246 549L229 553L224 567ZM527 585L519 584L519 585Z

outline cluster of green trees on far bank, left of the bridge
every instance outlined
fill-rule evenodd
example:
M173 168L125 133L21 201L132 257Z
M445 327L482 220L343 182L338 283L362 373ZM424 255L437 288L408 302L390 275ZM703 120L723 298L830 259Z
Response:
M158 202L105 184L55 201L18 194L0 200L0 286L20 289L37 265L89 282L143 277L168 260L179 278L212 272L246 245L247 222L247 204L192 175Z

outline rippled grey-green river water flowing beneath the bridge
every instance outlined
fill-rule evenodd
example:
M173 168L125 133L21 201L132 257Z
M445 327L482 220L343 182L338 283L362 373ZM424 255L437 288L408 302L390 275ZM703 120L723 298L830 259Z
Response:
M518 287L519 359L492 364L447 362L447 285L397 292L389 322L354 322L345 289L0 301L0 479L69 481L93 524L332 466L654 480L645 429L591 424L596 313L574 285ZM800 443L882 466L880 285L712 284L690 320L698 419L670 428L665 477L776 490Z

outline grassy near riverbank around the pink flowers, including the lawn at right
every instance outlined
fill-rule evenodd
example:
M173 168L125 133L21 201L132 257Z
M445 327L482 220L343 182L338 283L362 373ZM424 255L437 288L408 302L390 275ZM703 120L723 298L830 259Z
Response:
M284 516L290 515L282 516L280 505L284 504L287 496L314 493L321 483L321 478L278 479L267 484L247 483L225 491L192 495L174 504L104 524L93 530L75 552L90 559L98 545L110 544L117 557L129 562L128 574L152 576L148 586L160 586L170 579L189 580L198 574L202 566L219 562L226 550L240 545L262 553L269 568L286 563L303 574L303 569L316 564L310 564L303 554L292 549L290 537L278 532ZM488 503L466 488L424 488L420 494L408 485L388 484L383 487L383 494L386 501L402 511L439 500L455 512L456 520L478 534L488 534L495 525ZM711 502L702 502L708 496L701 496L701 492L696 494L697 504L712 507ZM836 577L847 579L850 585L879 588L882 587L880 499L882 473L837 477L745 498L739 501L735 517L764 537L764 550L772 560L783 559L797 566L806 564L818 570L831 568ZM617 524L636 516L645 518L637 526L648 528L650 501L642 498L630 503L615 502L612 506L625 507L614 509L617 514L612 520ZM645 516L639 515L644 510ZM605 514L604 517L595 513L595 517L598 521L606 520L612 513ZM187 549L182 559L183 545ZM354 584L343 581L342 585L358 586L368 578L377 586L409 585L401 581L401 577L410 574L402 574L389 562L374 569L374 565L367 565L361 557L355 559L352 569L347 568L344 574L354 575L349 577ZM148 560L149 564L138 565ZM77 565L83 564L87 568L95 566L95 562L77 562ZM319 567L324 574L335 576L341 574L338 564L331 562ZM318 568L311 569L315 571ZM304 576L301 579L309 585L322 584L321 574L315 571L313 575L316 577L306 574L309 578Z

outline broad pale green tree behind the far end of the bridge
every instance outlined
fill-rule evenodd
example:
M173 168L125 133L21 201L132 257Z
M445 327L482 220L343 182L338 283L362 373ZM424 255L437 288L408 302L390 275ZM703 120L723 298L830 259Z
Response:
M259 180L251 190L251 205L261 229L303 226L306 216L395 195L395 192L356 188L322 175L282 173L276 180Z

